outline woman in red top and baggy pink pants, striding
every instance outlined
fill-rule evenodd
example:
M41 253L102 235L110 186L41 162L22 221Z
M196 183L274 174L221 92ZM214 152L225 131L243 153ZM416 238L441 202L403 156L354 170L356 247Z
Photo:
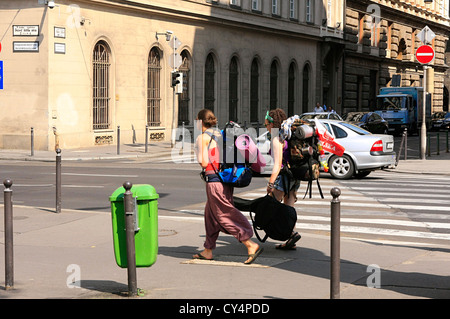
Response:
M247 247L248 258L245 264L251 264L263 251L257 243L251 240L253 228L248 219L233 205L233 187L222 184L216 176L219 168L220 155L218 143L214 136L220 132L214 130L217 119L211 110L203 109L197 115L197 125L202 134L196 140L195 150L198 163L205 169L206 205L204 250L192 258L213 260L213 249L219 232L234 236ZM200 127L201 126L201 127ZM214 165L214 167L213 167Z

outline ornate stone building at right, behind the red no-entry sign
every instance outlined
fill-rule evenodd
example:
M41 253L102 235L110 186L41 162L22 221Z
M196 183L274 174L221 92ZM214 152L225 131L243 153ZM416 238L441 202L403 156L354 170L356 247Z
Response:
M373 109L381 87L422 86L423 68L415 51L425 26L436 34L430 43L435 59L427 71L427 91L432 93L432 112L437 112L448 107L449 1L347 1L344 112Z

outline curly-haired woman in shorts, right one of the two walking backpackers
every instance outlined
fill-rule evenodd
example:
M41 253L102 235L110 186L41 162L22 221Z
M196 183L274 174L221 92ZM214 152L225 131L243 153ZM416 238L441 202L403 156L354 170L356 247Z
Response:
M281 124L287 119L286 113L280 109L267 111L264 126L269 131L271 136L271 153L274 160L272 174L270 175L267 184L267 193L272 194L278 201L283 201L284 204L294 207L297 201L297 190L300 187L300 180L291 179L289 176L280 174L283 160L289 161L289 150L287 141L280 138L278 134ZM295 249L295 243L301 238L298 232L292 231L291 237L286 243L277 245L277 249L290 250Z

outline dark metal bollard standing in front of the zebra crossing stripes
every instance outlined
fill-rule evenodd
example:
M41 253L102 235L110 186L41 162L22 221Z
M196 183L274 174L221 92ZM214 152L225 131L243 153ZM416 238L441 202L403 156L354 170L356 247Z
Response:
M333 187L330 191L331 200L331 281L330 298L340 299L341 264L340 264L340 237L341 237L341 202L339 196L341 190Z

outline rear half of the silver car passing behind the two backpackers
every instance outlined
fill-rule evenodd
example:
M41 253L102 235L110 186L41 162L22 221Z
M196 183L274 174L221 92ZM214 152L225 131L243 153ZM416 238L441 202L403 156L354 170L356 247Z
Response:
M395 165L394 137L372 134L345 121L320 120L335 141L345 148L343 156L325 153L334 178L365 177L377 169Z

